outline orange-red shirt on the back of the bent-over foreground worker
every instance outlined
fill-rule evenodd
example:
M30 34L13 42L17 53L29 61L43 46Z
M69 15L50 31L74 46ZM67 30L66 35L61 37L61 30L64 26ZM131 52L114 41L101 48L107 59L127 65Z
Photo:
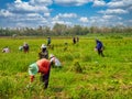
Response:
M50 61L42 58L40 61L36 62L37 66L38 66L38 73L41 74L47 74L50 70Z

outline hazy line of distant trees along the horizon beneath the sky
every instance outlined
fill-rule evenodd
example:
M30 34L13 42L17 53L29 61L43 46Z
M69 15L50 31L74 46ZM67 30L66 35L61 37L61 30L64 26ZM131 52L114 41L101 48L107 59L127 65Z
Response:
M74 25L68 26L65 24L56 23L52 29L50 26L33 28L21 28L21 29L9 29L0 28L0 36L58 36L58 35L87 35L88 33L132 33L131 26L117 25L111 28L98 28L98 26L81 26Z

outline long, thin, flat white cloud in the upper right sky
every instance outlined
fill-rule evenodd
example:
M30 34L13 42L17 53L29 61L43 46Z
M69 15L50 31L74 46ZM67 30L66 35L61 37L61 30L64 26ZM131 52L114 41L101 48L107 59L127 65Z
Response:
M99 13L103 13L103 14L124 14L124 13L129 13L127 10L123 9L107 9L106 11L99 11Z

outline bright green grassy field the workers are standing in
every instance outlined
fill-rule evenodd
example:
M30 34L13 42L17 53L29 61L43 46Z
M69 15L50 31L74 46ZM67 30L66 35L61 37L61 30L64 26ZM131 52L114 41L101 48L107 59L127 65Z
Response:
M73 45L70 37L54 37L48 48L63 64L52 68L50 86L43 89L40 74L30 82L28 67L38 59L37 53L46 38L0 38L0 99L131 99L132 98L132 37L97 36L103 42L105 57L94 51L95 36L80 37ZM19 51L28 42L30 53ZM64 43L68 43L64 51ZM78 70L81 68L81 70Z

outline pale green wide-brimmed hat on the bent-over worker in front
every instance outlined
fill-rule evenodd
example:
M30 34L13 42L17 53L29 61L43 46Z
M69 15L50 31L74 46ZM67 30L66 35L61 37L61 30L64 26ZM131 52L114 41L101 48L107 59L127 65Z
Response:
M29 66L29 74L34 76L38 72L38 66L36 63L33 63Z

